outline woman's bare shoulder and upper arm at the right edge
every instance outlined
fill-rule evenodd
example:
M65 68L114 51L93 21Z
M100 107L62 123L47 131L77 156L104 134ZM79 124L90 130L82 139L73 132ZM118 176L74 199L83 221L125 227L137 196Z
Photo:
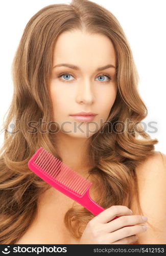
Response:
M150 223L146 223L146 232L137 234L138 241L140 244L166 244L166 155L154 151L135 170L140 206Z

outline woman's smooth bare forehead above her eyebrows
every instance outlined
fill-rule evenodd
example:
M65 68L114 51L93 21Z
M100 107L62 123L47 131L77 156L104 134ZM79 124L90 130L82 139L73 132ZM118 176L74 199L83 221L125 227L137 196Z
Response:
M79 66L116 66L115 51L111 40L101 34L88 34L80 30L62 33L53 51L53 65L61 62Z

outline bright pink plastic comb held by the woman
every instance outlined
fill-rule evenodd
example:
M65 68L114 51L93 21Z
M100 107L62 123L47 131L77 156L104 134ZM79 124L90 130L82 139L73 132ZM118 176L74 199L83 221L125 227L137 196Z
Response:
M96 216L105 210L89 196L89 188L92 183L68 168L44 148L40 147L32 156L28 167L42 180L84 206L93 215ZM116 218L118 217L114 219Z

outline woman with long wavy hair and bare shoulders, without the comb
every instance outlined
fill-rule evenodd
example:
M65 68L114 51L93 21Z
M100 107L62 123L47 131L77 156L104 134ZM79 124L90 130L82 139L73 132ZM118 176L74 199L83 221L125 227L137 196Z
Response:
M113 14L79 0L42 8L23 32L13 82L0 161L1 243L165 244L166 156L140 125L147 108ZM93 183L101 214L31 172L40 146Z

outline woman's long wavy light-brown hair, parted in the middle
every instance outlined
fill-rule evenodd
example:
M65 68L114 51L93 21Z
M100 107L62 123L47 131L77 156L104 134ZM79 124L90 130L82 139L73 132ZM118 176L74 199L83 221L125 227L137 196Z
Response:
M41 123L44 128L53 120L49 91L53 50L61 33L75 29L107 36L117 60L116 99L107 122L89 138L92 168L88 173L94 181L94 190L102 187L96 202L104 208L111 205L130 208L131 195L135 195L142 213L135 167L154 153L158 140L151 139L140 123L148 111L137 90L139 76L125 33L110 11L91 1L49 5L29 20L12 63L14 93L3 123L5 136L0 151L1 244L15 244L23 236L36 216L39 196L50 188L28 168L29 159L42 146L61 160L54 134L32 132L29 123L33 120L37 131ZM9 132L13 124L14 130ZM122 124L123 132L115 132ZM65 214L64 223L71 236L80 238L93 217L74 202Z

